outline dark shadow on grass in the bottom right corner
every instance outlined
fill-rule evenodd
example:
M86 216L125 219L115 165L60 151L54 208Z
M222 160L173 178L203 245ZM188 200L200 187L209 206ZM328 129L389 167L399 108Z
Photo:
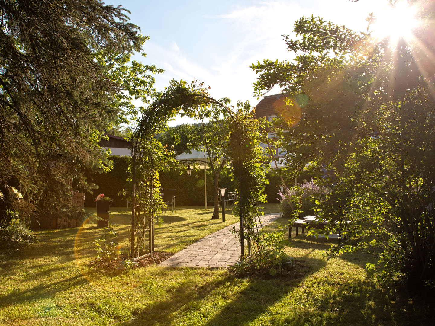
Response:
M432 325L432 297L385 291L371 280L337 283L335 291L308 292L301 307L287 316L273 316L271 325Z

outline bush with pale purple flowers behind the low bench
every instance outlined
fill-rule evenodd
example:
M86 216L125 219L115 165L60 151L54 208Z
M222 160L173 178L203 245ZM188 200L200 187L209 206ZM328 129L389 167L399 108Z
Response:
M284 193L279 191L278 195L281 198L277 198L280 200L279 207L282 215L286 217L290 217L296 209L300 210L301 213L308 213L316 206L315 201L323 198L329 192L327 187L306 180L291 189L286 187L286 190Z

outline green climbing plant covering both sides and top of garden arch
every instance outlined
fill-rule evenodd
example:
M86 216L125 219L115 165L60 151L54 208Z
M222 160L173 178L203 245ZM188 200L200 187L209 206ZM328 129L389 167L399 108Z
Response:
M217 119L221 113L231 120L231 141L227 157L232 162L236 191L240 198L234 212L241 220L241 256L244 255L244 239L259 245L257 226L261 212L257 203L265 201L262 191L267 183L264 177L265 167L262 166L262 162L266 161L263 157L265 153L261 150L260 141L267 139L267 133L258 120L252 119L254 116L250 113L248 103L239 102L237 112L233 112L224 103L229 103L228 99L215 100L203 83L173 80L163 93L157 94L155 100L142 110L142 116L137 119L137 128L131 137L131 258L138 260L154 251L155 213L164 205L159 196L158 173L163 166L174 163L171 151L156 136L177 113L195 117L201 112L201 116L209 119ZM210 107L219 107L221 111L207 109ZM145 253L146 233L148 253Z

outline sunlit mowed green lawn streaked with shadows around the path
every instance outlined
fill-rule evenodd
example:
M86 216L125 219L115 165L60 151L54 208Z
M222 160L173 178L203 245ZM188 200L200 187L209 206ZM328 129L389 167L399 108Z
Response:
M120 237L128 230L122 210L113 214ZM266 205L265 213L272 211L276 205ZM177 252L236 222L230 212L222 223L199 207L168 211L155 231L156 250ZM285 223L278 219L265 229ZM103 233L94 225L36 233L37 244L0 256L1 325L433 324L431 298L376 286L364 269L371 256L352 253L326 262L328 240L293 234L286 251L298 260L297 276L262 280L234 278L227 269L158 266L106 275L87 266L93 240Z

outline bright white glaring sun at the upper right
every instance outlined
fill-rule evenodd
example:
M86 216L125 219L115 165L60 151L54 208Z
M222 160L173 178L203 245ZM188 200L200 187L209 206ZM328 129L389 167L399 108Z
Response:
M417 12L418 6L409 5L405 0L383 7L374 13L372 33L380 39L388 38L392 44L400 39L412 40L419 25Z

